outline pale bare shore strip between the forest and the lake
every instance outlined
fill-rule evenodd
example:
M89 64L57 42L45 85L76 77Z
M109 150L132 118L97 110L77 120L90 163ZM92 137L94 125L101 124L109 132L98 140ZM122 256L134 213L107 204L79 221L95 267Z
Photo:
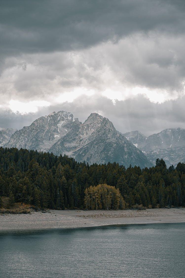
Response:
M51 210L48 213L0 215L0 230L179 222L185 222L185 208L111 211Z

